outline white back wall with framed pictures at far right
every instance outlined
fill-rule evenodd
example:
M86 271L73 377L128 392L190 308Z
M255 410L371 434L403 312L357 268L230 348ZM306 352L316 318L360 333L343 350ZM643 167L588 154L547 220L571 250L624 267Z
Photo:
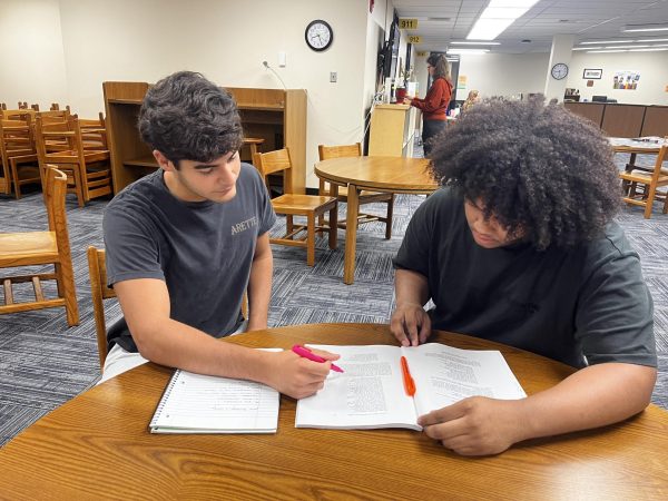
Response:
M584 68L602 69L602 78L592 80L587 87L582 78ZM635 90L612 89L612 77L617 71L639 71L640 80ZM665 52L573 52L566 87L580 91L580 100L591 96L608 96L628 105L668 105L668 51Z

